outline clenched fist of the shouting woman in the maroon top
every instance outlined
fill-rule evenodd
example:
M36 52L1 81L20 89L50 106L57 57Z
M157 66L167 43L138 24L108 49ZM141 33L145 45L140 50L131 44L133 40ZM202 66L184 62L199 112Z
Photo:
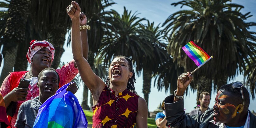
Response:
M67 14L71 19L78 19L80 17L81 8L77 2L72 1L71 5L67 7Z

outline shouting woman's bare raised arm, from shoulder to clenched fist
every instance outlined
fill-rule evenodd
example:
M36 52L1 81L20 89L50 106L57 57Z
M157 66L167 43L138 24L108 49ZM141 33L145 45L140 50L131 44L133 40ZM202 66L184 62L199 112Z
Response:
M79 28L79 16L81 8L77 2L71 2L71 5L67 7L67 13L72 20L71 28L71 42L73 58L78 67L78 71L83 82L92 92L94 100L98 100L101 91L105 87L104 81L98 77L90 67L90 64L83 57L82 54L82 40Z

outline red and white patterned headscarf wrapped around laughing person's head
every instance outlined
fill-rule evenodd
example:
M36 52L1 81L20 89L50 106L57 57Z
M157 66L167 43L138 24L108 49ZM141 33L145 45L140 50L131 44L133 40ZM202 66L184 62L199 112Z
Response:
M29 63L31 63L31 59L32 57L36 54L37 51L39 51L42 48L48 48L51 53L52 53L52 60L54 58L54 47L52 46L52 44L46 40L43 41L37 41L37 40L32 40L30 42L30 47L27 53L27 60Z

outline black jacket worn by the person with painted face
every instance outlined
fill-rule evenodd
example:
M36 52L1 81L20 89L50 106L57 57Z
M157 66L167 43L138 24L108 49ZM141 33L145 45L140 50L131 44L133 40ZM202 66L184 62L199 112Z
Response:
M208 109L202 115L185 114L184 100L172 103L174 95L164 100L166 120L172 128L224 128L224 124L213 120L213 109ZM249 110L248 110L249 111ZM256 128L256 117L250 111L250 128Z

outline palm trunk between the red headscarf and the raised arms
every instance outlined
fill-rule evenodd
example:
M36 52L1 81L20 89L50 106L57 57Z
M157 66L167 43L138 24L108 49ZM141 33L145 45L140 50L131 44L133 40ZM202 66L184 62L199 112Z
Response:
M59 18L57 19L56 24L49 25L48 27L48 35L47 41L52 43L53 47L55 48L54 54L54 61L52 62L52 68L57 69L60 63L60 58L64 52L63 45L65 43L65 36L67 33L67 25L63 24L64 16L63 13L60 14ZM71 58L73 59L73 58Z

